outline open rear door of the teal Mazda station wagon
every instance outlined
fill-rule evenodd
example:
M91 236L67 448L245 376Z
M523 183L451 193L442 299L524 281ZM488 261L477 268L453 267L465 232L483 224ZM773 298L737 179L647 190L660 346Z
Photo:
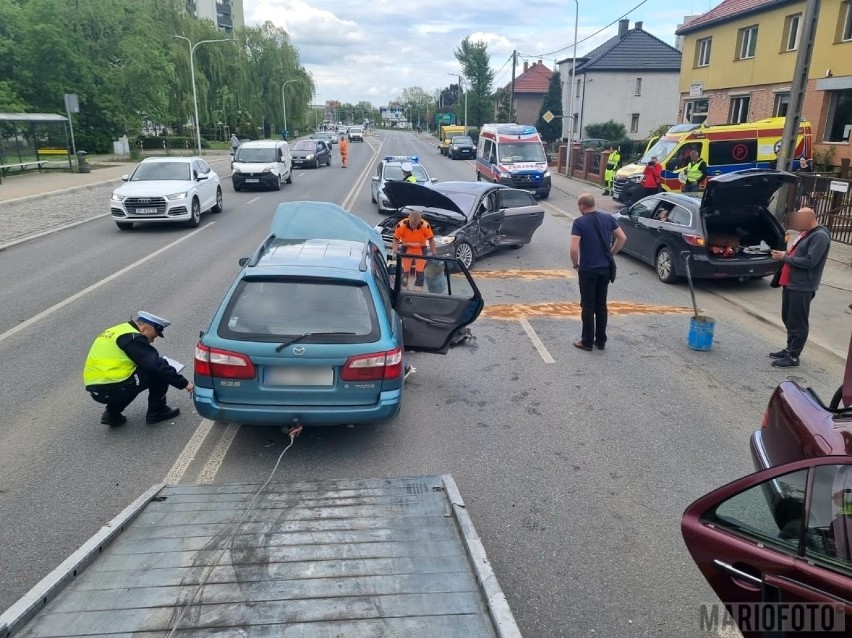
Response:
M408 257L403 254L396 260L393 281L393 307L402 319L403 344L406 349L446 354L453 337L482 312L482 294L458 259L411 255L425 262L423 280L418 282L414 273L405 277Z

